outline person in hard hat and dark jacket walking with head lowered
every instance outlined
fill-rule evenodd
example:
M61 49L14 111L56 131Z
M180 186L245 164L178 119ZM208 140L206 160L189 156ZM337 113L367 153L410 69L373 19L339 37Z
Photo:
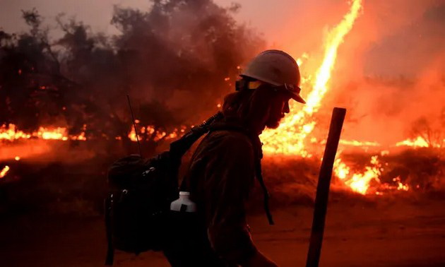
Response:
M197 205L196 231L164 249L172 266L277 266L254 245L245 204L262 157L259 135L275 129L299 95L297 62L267 50L244 69L237 91L225 97L224 119L215 123L191 159L182 182ZM259 165L261 172L261 165Z

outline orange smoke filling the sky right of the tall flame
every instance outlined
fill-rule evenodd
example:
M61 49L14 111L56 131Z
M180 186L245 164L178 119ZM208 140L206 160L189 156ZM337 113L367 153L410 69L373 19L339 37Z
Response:
M440 45L445 43L445 4L437 3L391 1L364 7L368 21L357 23L354 32L365 39L370 35L372 42L354 49L347 40L346 57L339 56L338 79L333 80L338 83L333 84L333 104L350 109L345 136L391 146L415 137L417 119L440 119L445 107L445 48Z

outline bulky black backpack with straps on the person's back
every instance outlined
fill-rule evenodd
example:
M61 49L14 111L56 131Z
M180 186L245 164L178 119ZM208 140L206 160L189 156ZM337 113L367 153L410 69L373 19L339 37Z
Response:
M171 227L170 203L179 195L178 171L182 156L198 138L209 131L240 131L251 137L245 129L220 123L223 114L218 112L182 138L170 144L170 150L153 158L129 155L114 162L108 171L109 194L105 198L105 226L107 230L106 266L112 266L114 249L140 254L143 251L160 251L168 239ZM259 138L256 137L259 142ZM261 175L261 145L257 152L256 178L263 189L264 209L273 225L268 208L268 191Z

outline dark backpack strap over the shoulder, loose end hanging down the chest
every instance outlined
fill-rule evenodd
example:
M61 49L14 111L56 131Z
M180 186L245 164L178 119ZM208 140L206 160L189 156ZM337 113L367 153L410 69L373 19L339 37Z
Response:
M251 133L251 131L242 126L239 126L239 124L233 124L227 121L215 122L215 124L212 124L210 126L210 132L212 131L238 131L240 133L244 133L247 137L249 137L249 140L254 146L256 173L255 176L261 186L261 189L263 189L264 211L266 212L269 225L274 225L271 209L269 208L269 192L266 184L264 184L263 172L261 170L261 159L263 158L263 150L261 147L263 146L263 143L261 143L259 136L255 133Z

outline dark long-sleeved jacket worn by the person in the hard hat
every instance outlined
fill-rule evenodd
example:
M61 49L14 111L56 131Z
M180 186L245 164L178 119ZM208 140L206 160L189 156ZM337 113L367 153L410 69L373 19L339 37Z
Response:
M261 156L258 135L235 119L203 138L182 182L198 207L196 222L165 249L172 266L244 265L256 253L245 204Z

